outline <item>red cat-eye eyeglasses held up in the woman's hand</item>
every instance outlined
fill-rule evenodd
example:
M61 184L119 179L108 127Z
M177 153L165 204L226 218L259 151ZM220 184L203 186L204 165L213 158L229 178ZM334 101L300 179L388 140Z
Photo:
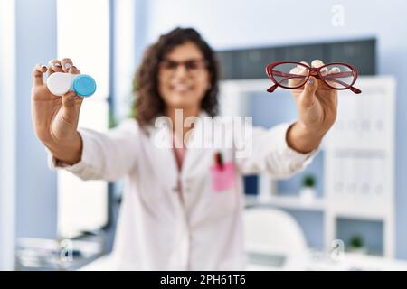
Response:
M301 62L278 61L270 63L266 72L274 82L274 85L267 89L270 93L278 87L299 89L307 83L310 76L324 81L331 89L350 89L356 94L362 92L353 86L358 76L357 69L347 63L328 63L315 68Z

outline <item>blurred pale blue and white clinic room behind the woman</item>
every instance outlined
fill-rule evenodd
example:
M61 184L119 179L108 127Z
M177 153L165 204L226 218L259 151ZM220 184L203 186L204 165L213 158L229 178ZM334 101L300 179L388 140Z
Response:
M191 26L218 53L222 115L256 126L297 117L289 91L265 92L271 61L349 62L361 73L363 93L339 93L336 125L307 170L245 178L249 268L406 270L405 11L402 0L0 0L0 269L98 264L120 206L121 182L48 168L31 121L33 66L69 57L94 76L80 126L103 131L131 116L147 45Z

